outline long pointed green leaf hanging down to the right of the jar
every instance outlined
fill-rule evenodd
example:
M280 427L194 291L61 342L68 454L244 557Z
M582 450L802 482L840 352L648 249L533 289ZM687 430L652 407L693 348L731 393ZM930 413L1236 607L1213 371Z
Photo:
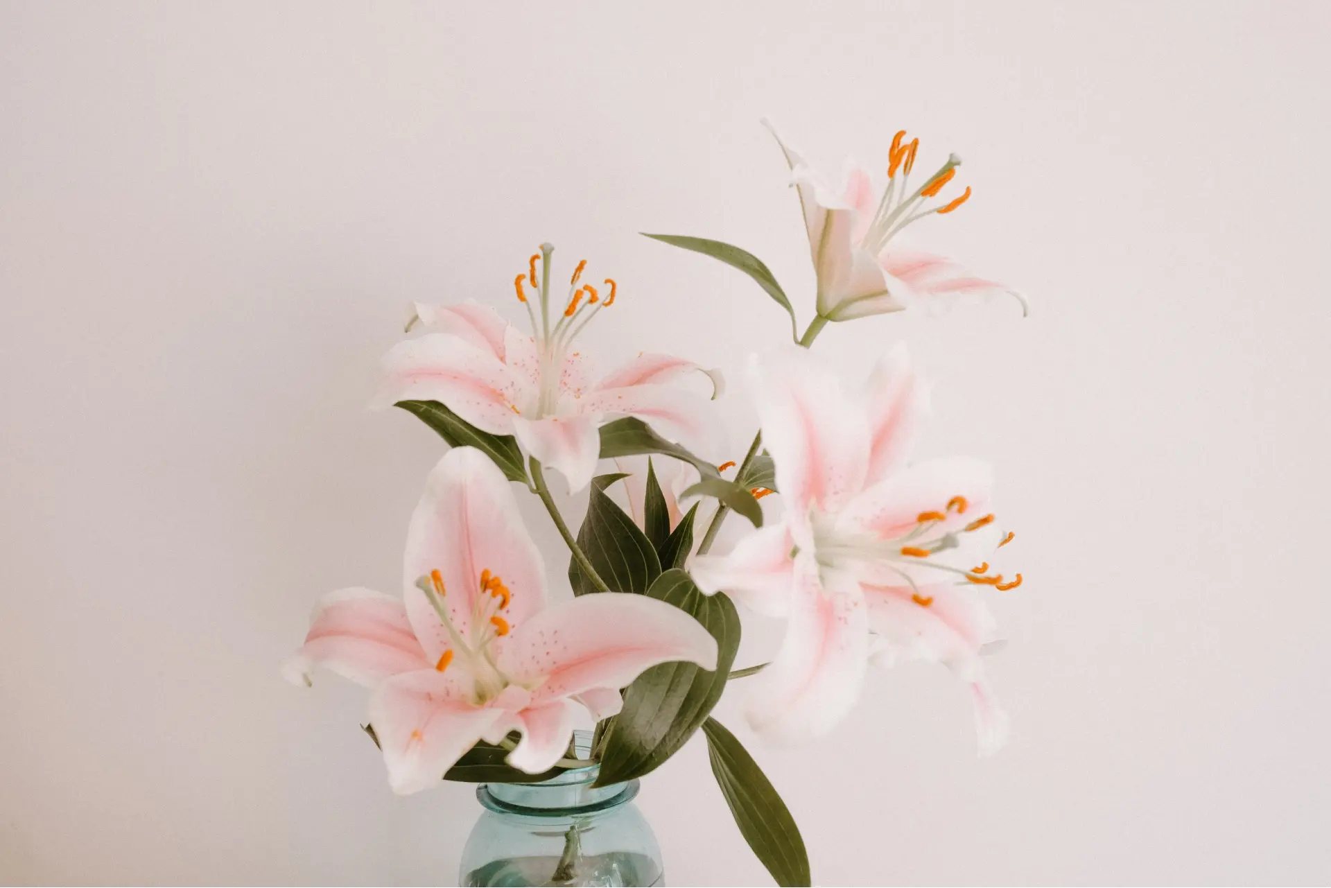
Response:
M809 855L795 817L772 781L735 735L716 719L703 723L712 775L731 805L735 824L779 885L811 885Z

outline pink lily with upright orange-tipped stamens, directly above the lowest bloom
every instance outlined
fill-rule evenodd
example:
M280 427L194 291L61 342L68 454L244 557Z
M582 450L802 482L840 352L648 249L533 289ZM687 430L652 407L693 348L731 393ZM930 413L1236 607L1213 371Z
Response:
M705 399L667 385L701 369L667 354L639 354L595 381L587 359L572 346L591 320L615 304L619 286L612 278L603 288L582 282L583 261L570 281L567 302L555 305L552 250L543 244L527 272L514 278L531 335L475 304L418 305L417 318L437 333L389 351L381 401L439 401L483 431L516 435L532 457L564 475L570 493L591 481L600 454L598 429L612 418L638 417L671 441L705 450ZM715 385L716 377L713 393Z

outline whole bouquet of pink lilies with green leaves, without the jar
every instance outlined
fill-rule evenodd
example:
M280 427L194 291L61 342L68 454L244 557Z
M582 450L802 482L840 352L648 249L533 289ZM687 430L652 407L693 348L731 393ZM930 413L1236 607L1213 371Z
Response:
M422 334L386 355L382 403L415 414L449 450L407 526L401 592L323 598L286 674L309 684L322 666L373 690L366 731L395 792L539 781L594 763L599 785L620 783L701 728L749 845L780 884L809 884L788 809L711 718L729 682L757 735L795 744L847 716L870 663L933 660L969 688L981 754L1002 744L984 596L1021 574L1000 572L1013 534L993 514L990 471L969 458L912 461L928 394L904 350L845 382L811 347L829 322L965 294L1014 296L1024 312L1025 300L901 242L970 197L952 184L956 156L912 188L920 141L897 133L885 181L852 164L835 186L777 141L817 281L803 332L751 253L650 236L739 269L791 317L792 342L751 359L760 430L739 465L699 455L715 455L717 373L639 354L599 375L575 350L618 285L594 282L586 261L556 272L548 244L512 280L526 325L475 302L417 305L407 332ZM547 474L588 498L580 527ZM567 543L570 600L547 602L548 566L518 513L527 493ZM716 554L731 513L745 533ZM735 668L743 608L783 618L785 634L771 662ZM591 724L591 758L578 758L574 730Z

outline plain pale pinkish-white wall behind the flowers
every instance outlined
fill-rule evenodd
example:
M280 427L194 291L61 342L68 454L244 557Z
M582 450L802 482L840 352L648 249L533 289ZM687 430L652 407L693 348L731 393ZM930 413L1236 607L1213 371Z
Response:
M737 382L784 316L636 232L809 293L761 114L961 153L920 234L1036 301L819 342L910 341L1028 582L998 758L925 667L755 744L815 879L1327 881L1328 40L1322 3L0 4L0 881L450 884L471 789L394 797L363 692L278 678L319 594L395 588L441 453L365 409L378 357L413 300L516 318L551 240L622 282L588 349ZM767 880L700 740L642 805L673 884Z

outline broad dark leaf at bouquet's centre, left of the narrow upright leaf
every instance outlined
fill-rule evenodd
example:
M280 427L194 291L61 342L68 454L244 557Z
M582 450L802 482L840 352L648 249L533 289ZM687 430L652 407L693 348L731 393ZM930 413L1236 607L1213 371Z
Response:
M578 546L611 591L646 592L660 576L662 564L656 547L638 530L634 519L606 495L606 486L619 481L624 474L599 475L592 479L591 495L587 501L587 518L578 529ZM574 595L595 592L578 562L568 562L568 582Z

